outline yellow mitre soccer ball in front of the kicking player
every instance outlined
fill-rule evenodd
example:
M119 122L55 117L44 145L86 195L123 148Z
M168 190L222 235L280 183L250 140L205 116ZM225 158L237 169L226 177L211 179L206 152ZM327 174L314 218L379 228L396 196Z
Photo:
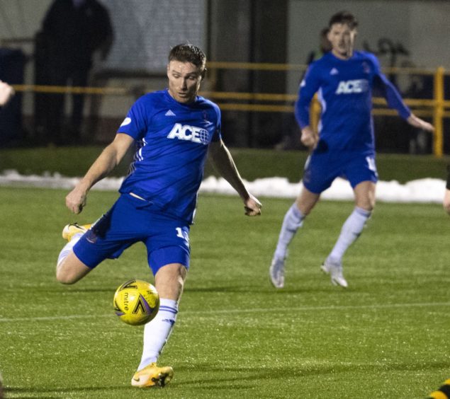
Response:
M159 310L159 295L152 284L133 279L123 283L114 294L116 315L130 325L148 323Z

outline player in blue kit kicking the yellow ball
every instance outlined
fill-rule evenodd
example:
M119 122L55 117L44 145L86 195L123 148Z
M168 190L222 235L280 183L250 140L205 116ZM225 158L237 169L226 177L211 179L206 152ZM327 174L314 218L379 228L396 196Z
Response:
M118 258L137 241L145 243L160 307L144 328L142 359L131 380L137 387L164 386L174 374L170 366L157 366L157 359L174 326L189 268L189 226L208 153L242 198L245 214L261 214L260 202L244 187L221 139L218 106L197 95L205 72L201 49L193 45L171 49L169 88L136 101L112 143L66 197L67 207L75 214L81 212L90 188L137 144L113 207L92 226L64 227L63 237L69 243L56 270L59 282L74 284L106 258Z

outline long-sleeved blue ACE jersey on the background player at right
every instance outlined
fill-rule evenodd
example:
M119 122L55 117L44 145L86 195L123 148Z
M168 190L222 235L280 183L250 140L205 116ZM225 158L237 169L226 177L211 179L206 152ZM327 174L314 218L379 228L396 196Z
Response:
M300 83L296 119L310 125L310 101L315 93L322 105L316 151L373 155L372 89L380 88L388 106L401 117L411 112L392 83L381 73L378 59L369 52L354 52L343 60L328 52L310 64Z

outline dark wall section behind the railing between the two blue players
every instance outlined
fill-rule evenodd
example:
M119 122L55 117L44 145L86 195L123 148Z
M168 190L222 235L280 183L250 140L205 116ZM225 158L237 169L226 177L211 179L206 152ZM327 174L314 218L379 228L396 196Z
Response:
M211 60L286 63L288 0L209 2ZM283 72L220 70L218 91L281 93ZM273 146L280 140L284 115L279 112L223 112L224 135L234 146Z

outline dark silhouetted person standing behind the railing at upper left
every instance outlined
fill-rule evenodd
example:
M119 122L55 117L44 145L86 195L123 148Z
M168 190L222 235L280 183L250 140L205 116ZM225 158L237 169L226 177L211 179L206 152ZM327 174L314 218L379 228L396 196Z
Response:
M36 37L35 83L86 87L94 54L106 59L113 43L108 10L97 0L55 0ZM81 140L84 94L72 94L72 112L64 137L64 93L35 97L35 129L38 137L55 144Z

